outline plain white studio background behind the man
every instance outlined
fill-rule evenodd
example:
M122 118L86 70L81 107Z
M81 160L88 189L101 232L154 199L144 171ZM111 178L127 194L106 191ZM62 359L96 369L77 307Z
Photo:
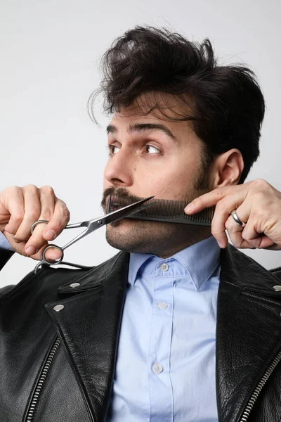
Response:
M247 180L261 177L281 191L280 15L277 0L1 0L0 191L11 185L53 186L71 222L97 217L107 160L105 124L89 120L86 103L100 80L100 57L135 25L169 26L189 39L209 37L221 64L244 62L266 98L261 157ZM74 237L65 232L58 244ZM105 231L79 241L66 260L94 265L114 255ZM244 250L266 268L281 252ZM18 283L35 262L14 256L0 286Z

